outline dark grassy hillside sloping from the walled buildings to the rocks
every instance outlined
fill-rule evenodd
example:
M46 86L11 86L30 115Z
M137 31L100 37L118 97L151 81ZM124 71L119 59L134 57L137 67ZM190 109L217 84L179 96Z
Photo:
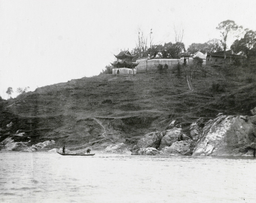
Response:
M133 144L172 120L187 132L200 117L250 115L256 107L255 76L241 67L204 67L192 73L194 91L184 70L180 77L173 70L98 75L41 87L1 103L0 141L22 130L31 144L51 139L70 148ZM14 125L6 128L10 122Z

